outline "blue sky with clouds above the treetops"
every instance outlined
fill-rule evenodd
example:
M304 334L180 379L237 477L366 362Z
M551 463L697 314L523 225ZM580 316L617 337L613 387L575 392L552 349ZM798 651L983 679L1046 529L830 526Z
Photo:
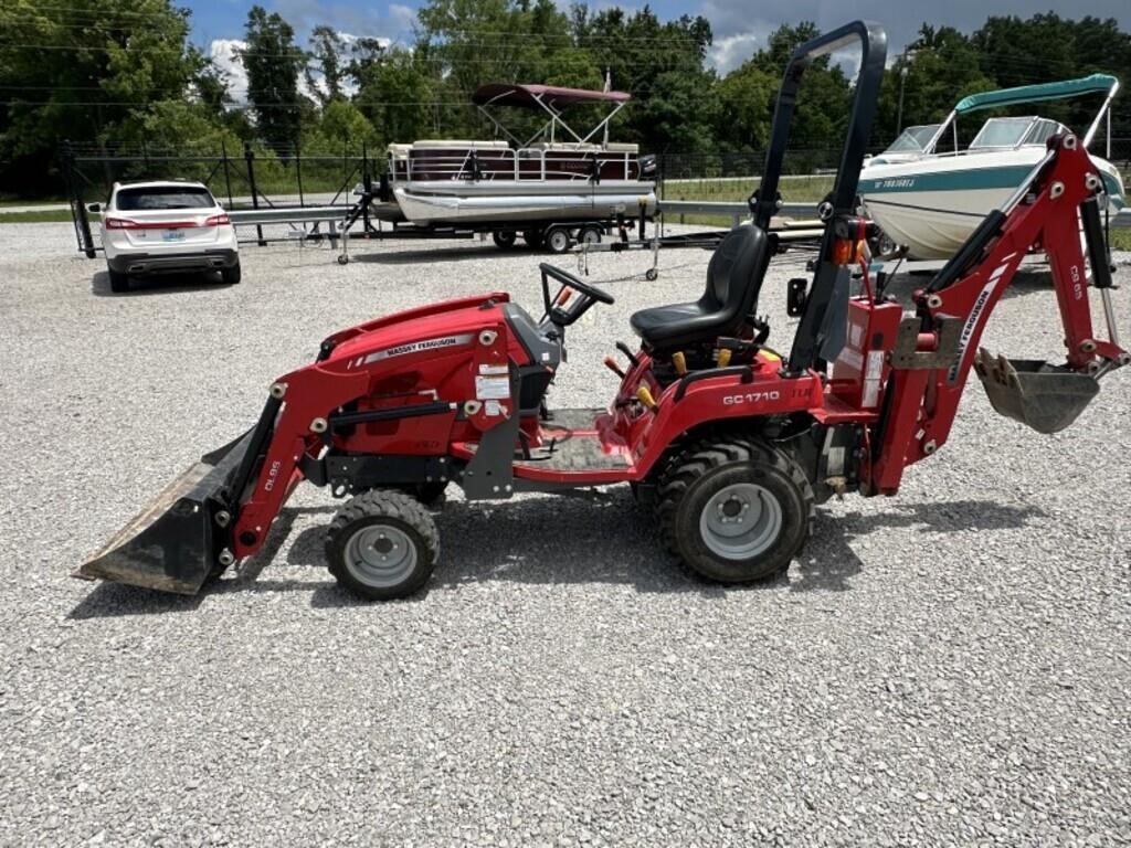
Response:
M181 0L192 10L193 42L207 50L214 41L240 38L251 0ZM300 40L319 24L328 24L353 35L411 41L416 0L260 0L268 10L278 11L294 26ZM568 0L559 0L563 8ZM604 8L613 3L590 3ZM898 52L915 37L920 24L930 20L964 32L976 29L988 15L1029 17L1036 11L1056 11L1064 17L1093 15L1115 18L1131 31L1131 0L947 0L947 2L892 3L890 0L657 0L649 3L663 18L703 15L715 33L713 63L722 71L737 67L766 36L784 23L814 20L830 29L849 17L878 20L887 28L889 54ZM633 10L644 3L621 3Z

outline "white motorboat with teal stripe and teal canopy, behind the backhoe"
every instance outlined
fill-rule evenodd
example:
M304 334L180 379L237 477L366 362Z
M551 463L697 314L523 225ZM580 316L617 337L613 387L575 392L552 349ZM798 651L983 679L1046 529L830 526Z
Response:
M869 216L912 259L947 259L969 237L978 223L1003 204L1044 157L1046 141L1067 131L1056 121L1028 115L991 118L965 150L958 149L958 118L985 109L1103 94L1098 114L1083 135L1090 147L1106 118L1111 145L1111 103L1119 90L1115 77L1094 73L1081 79L1004 88L973 94L958 102L946 121L908 127L879 156L871 158L860 180ZM947 137L953 149L940 152ZM1107 156L1111 156L1108 149ZM1093 154L1104 181L1107 205L1125 205L1119 170Z

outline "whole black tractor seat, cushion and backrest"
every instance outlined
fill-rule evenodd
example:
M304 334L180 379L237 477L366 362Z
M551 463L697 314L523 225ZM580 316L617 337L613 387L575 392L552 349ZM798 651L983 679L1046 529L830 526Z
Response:
M710 258L702 297L633 313L629 320L633 332L650 351L671 351L737 335L758 304L769 258L766 232L753 224L739 224Z

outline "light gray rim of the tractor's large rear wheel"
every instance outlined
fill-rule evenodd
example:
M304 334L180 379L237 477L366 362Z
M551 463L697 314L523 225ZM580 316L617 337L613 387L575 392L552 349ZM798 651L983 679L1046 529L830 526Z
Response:
M716 492L699 516L703 544L725 560L749 560L770 548L782 534L782 504L756 483L734 483Z

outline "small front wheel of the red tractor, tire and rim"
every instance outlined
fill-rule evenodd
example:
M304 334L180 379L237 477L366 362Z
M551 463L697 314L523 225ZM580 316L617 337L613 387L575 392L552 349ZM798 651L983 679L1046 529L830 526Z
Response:
M375 488L349 499L326 534L330 573L370 600L412 595L428 582L439 556L435 521L403 492Z

